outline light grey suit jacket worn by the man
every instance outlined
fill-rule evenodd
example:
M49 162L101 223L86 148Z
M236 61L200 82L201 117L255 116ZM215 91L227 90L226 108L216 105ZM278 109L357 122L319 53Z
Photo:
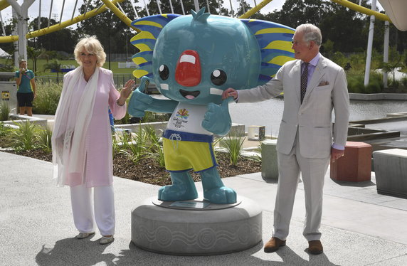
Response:
M344 70L321 56L300 102L301 60L292 60L280 68L275 78L250 90L239 90L238 102L260 102L284 92L284 112L277 150L289 154L299 134L301 155L326 158L332 141L344 146L349 123L349 94ZM332 132L332 110L334 129ZM332 136L333 133L333 136ZM332 140L333 137L333 140Z

